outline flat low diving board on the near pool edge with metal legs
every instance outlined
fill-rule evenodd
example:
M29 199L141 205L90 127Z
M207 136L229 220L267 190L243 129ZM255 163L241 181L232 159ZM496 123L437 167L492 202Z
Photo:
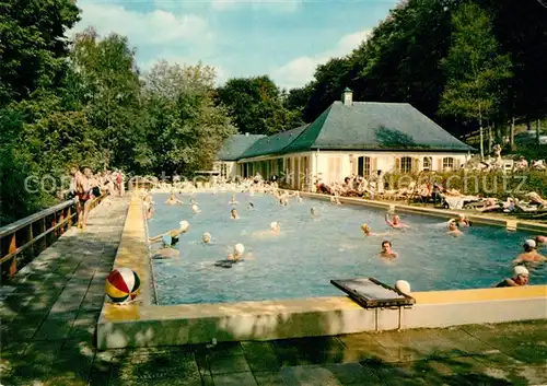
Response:
M414 297L374 278L330 280L330 283L365 308L401 307L416 304Z

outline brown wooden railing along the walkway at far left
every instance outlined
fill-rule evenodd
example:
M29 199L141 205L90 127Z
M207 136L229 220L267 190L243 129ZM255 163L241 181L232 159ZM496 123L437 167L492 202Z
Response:
M93 199L90 210L105 196ZM30 262L78 222L75 199L59 203L0 227L0 276L13 278L19 268Z

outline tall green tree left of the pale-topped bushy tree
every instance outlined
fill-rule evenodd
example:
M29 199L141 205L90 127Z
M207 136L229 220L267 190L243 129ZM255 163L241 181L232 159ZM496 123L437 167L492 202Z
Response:
M100 38L95 30L78 34L72 63L79 74L78 92L96 141L105 150L105 166L135 166L143 140L141 83L135 49L126 37L110 34Z

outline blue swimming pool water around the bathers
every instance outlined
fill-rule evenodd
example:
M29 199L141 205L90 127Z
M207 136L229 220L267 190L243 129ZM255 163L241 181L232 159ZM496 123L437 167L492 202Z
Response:
M384 212L356 206L292 199L280 207L271 196L237 194L241 218L230 219L231 194L198 194L201 213L194 214L190 196L179 195L184 206L164 204L167 195L155 195L156 210L149 220L151 236L175 229L181 220L190 223L181 236L181 258L153 260L158 303L222 303L344 295L330 279L375 277L394 284L407 280L412 291L488 288L511 276L511 260L531 234L508 232L493 226L464 229L458 238L445 234L440 219L401 214L411 229L389 231ZM252 200L255 210L246 209ZM318 215L310 214L311 207ZM269 224L281 224L281 234L269 235ZM382 237L364 237L360 225ZM203 232L212 243L200 243ZM389 239L399 258L377 257L383 239ZM254 260L234 268L214 267L237 243L245 245ZM531 284L547 283L544 267L531 272Z

